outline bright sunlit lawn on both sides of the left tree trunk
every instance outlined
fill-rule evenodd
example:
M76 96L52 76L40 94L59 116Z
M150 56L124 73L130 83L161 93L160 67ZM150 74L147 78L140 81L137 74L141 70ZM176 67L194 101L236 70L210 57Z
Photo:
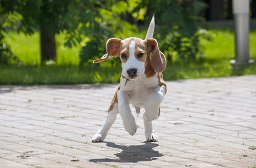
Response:
M13 54L16 55L23 64L40 65L40 39L38 33L32 36L25 35L24 33L10 33L6 39L8 44L11 45ZM65 41L64 34L56 36L57 65L77 66L80 61L80 45L70 49L64 46L63 41Z

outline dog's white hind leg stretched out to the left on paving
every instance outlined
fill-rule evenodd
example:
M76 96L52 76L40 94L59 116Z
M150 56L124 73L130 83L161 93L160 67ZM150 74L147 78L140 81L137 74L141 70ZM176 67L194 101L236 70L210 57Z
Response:
M108 134L111 126L116 121L116 115L118 114L118 105L117 103L114 105L113 109L109 111L108 117L105 122L101 126L101 128L97 131L97 133L93 136L92 142L102 142L106 134Z

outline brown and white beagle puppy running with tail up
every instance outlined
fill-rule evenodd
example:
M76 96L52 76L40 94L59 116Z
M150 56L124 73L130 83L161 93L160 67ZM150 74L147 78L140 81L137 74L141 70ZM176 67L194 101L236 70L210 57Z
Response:
M166 93L162 71L166 67L164 54L159 51L158 44L153 39L155 28L154 16L148 28L146 39L136 37L124 40L111 38L106 42L106 54L94 63L104 61L109 56L120 57L122 75L120 84L114 95L102 127L93 136L92 142L101 142L120 114L125 130L134 135L138 128L132 114L130 104L136 112L144 108L143 121L147 141L158 141L152 121L160 115L160 103Z

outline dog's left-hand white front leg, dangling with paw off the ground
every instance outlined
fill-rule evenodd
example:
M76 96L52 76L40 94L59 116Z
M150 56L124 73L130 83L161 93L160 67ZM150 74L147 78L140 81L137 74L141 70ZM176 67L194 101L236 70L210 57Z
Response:
M138 126L135 123L135 118L129 106L129 95L121 90L118 90L117 99L118 111L122 117L123 126L130 135L134 135Z

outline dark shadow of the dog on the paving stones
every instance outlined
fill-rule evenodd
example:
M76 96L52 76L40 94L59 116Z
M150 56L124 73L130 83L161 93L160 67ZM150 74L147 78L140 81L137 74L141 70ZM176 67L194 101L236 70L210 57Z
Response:
M89 161L96 162L96 163L97 162L134 162L134 163L137 163L138 161L156 160L157 158L163 156L158 151L153 150L153 148L159 146L157 143L143 142L142 145L131 145L131 146L117 145L116 143L113 143L113 142L104 142L104 143L106 143L107 147L122 150L121 153L114 154L119 159L102 158L102 159L90 159Z

